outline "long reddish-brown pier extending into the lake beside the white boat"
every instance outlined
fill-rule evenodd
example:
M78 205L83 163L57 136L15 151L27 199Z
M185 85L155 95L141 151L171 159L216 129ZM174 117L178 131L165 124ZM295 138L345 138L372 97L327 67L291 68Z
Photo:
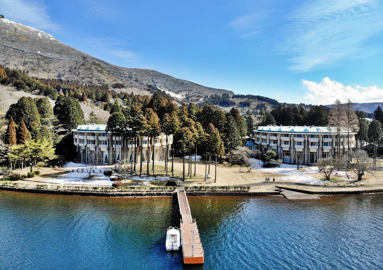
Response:
M195 218L191 218L188 198L184 190L177 190L180 207L182 254L184 264L203 264L204 252Z

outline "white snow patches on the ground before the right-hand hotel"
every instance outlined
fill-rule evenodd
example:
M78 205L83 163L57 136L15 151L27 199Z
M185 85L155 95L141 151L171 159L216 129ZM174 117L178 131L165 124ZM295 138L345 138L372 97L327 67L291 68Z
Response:
M262 171L267 171L268 173L275 173L278 175L277 179L280 179L281 181L292 181L295 183L302 183L302 184L310 184L310 185L318 185L321 186L325 183L329 183L329 181L323 181L318 178L315 178L311 176L311 174L318 174L319 170L318 167L312 166L304 166L304 165L299 165L300 168L304 168L304 170L297 170L296 165L293 164L281 164L280 167L275 167L275 168L264 168L262 167L263 162L260 162L260 165L258 160L254 159L255 167L254 169L256 170L262 170ZM334 171L332 177L339 178L345 181L352 181L352 179L348 179L346 176L345 171Z

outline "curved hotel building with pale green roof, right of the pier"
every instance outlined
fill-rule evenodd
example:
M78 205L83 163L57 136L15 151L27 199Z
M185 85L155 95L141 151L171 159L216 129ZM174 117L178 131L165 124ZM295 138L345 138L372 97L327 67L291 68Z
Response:
M337 128L324 126L259 126L254 130L256 149L265 153L274 150L284 163L295 163L296 152L303 154L303 164L317 162L319 158L333 157L337 151ZM355 147L355 132L340 129L340 152L347 158Z

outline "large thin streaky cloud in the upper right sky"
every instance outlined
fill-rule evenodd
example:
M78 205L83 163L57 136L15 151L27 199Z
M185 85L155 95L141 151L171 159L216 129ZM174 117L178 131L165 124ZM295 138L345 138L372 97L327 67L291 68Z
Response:
M375 0L311 0L291 13L282 46L290 70L333 66L345 58L365 57L368 40L383 29L381 3ZM368 44L368 45L366 45ZM371 46L371 45L370 45Z

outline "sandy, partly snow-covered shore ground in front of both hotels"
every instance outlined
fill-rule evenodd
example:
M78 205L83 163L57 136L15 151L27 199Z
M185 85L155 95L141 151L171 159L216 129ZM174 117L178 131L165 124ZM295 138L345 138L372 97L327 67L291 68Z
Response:
M179 181L181 186L250 186L250 191L267 192L274 191L275 186L303 186L305 190L322 191L329 188L342 189L366 189L366 188L383 188L383 171L377 171L374 175L366 173L363 180L352 183L356 179L356 175L349 171L334 172L332 177L339 179L338 182L329 182L321 180L324 178L316 167L301 166L297 170L296 166L290 164L281 164L280 168L263 168L256 165L250 172L243 170L237 165L218 164L216 183L214 183L215 166L214 163L209 168L204 162L196 162L196 173L194 172L194 159L192 164L192 177L188 176L188 160L185 160L185 182ZM258 162L258 160L256 161ZM383 165L382 160L378 160L378 166ZM40 176L34 178L26 178L21 180L21 183L47 183L59 185L90 185L90 186L111 186L112 181L109 177L103 175L103 170L115 168L115 166L97 166L93 168L91 177L86 171L86 165L80 163L69 163L64 168L39 168ZM171 160L169 160L169 171L171 168ZM34 168L37 170L38 168ZM165 175L165 162L155 162L154 176L152 163L149 164L150 175L146 175L146 164L142 168L142 178L139 178L139 164L136 165L136 173L133 176L128 175L124 181L123 176L120 180L124 186L164 186L168 181L182 180L182 158L174 160L174 176L171 172ZM205 181L205 169L210 174L211 178ZM15 170L15 173L26 174L29 168L23 170ZM194 173L196 176L194 176ZM270 178L270 183L265 182L265 178ZM272 179L275 178L275 182ZM340 190L340 189L337 189Z

